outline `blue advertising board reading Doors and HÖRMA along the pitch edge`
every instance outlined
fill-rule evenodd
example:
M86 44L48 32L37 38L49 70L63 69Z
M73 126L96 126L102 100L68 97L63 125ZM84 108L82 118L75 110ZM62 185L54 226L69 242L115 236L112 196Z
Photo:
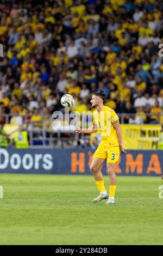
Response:
M5 149L0 148L0 173L91 174L89 166L94 150L73 149ZM129 150L118 162L118 175L163 174L163 151ZM103 174L106 164L103 167Z

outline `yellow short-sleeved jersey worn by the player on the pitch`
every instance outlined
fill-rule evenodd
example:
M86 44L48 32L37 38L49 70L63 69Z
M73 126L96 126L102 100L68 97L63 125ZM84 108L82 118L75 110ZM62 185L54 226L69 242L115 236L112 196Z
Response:
M117 133L113 126L117 121L119 118L110 107L104 106L102 111L98 112L96 109L93 112L93 125L97 125L98 131L102 135L102 142L107 148L119 145Z

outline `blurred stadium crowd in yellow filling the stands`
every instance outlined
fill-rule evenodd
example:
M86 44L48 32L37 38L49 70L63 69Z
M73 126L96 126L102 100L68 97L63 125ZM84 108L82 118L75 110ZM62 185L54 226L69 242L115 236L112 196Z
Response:
M162 14L161 0L2 0L0 114L41 120L66 93L82 113L104 89L124 123L162 122Z

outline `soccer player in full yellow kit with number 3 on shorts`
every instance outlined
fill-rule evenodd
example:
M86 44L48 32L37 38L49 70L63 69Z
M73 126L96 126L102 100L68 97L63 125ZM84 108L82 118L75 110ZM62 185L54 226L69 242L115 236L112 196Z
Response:
M96 180L99 190L99 196L92 200L92 203L108 199L106 204L115 203L115 191L117 187L117 178L115 173L116 164L122 154L126 153L123 148L122 130L120 121L115 111L103 105L105 98L104 91L96 92L92 95L91 105L96 108L93 112L92 126L88 129L76 127L77 133L101 132L102 140L95 154L93 155L90 166L91 172ZM104 186L102 167L106 161L106 171L110 178L109 196Z

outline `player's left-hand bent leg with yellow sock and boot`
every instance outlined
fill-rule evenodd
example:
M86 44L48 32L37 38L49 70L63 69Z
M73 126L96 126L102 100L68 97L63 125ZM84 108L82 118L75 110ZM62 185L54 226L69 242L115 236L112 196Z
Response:
M103 199L109 198L108 193L106 192L106 189L104 186L103 175L101 172L104 162L105 162L105 159L99 159L99 158L95 158L95 157L93 157L93 159L92 159L90 170L96 180L96 185L99 190L99 196L94 198L92 200L92 203L98 203Z

